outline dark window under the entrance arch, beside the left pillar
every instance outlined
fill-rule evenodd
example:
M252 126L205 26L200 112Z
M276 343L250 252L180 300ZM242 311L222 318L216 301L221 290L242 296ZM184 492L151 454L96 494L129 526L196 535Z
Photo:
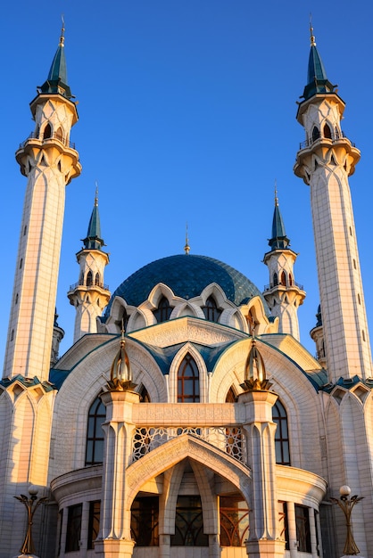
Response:
M158 496L135 498L131 506L131 535L137 546L158 546Z

